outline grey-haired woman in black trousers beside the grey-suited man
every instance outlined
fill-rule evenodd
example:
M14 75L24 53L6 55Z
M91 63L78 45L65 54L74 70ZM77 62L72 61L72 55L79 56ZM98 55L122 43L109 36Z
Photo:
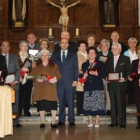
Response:
M21 70L29 71L31 67L22 67L23 63L25 62L26 58L29 58L28 54L28 42L27 41L20 41L19 43L19 64ZM22 114L22 109L24 110L25 116L31 116L30 110L30 100L31 100L31 90L32 90L32 81L27 80L26 83L23 84L23 78L20 78L20 89L19 89L19 113Z

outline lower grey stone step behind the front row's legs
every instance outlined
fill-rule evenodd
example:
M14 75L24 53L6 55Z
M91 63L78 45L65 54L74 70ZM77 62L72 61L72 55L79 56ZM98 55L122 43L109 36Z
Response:
M66 120L68 117L66 116ZM46 124L51 123L51 116L45 117ZM58 116L56 118L58 121ZM95 122L95 117L93 117L93 121ZM20 117L21 124L40 124L40 116L39 115L32 115L31 117ZM110 124L111 119L110 116L101 116L100 117L100 124ZM66 123L68 123L66 121ZM87 116L75 116L75 123L76 124L87 124L88 123L88 117ZM136 115L134 113L127 114L127 124L136 124L137 119Z

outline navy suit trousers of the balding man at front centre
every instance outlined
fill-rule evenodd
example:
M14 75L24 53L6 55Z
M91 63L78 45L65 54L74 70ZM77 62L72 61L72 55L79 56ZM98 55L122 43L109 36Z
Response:
M75 87L67 88L64 85L57 85L59 100L59 122L65 123L65 107L68 105L68 122L75 122L74 119L74 96Z

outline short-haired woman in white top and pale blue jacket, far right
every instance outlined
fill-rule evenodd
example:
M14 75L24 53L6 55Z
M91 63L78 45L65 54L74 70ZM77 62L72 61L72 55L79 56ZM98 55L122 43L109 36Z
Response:
M131 64L133 60L138 59L138 56L136 54L136 45L137 45L137 39L134 37L129 38L128 40L129 49L124 52L124 55L130 58ZM134 102L135 102L134 87L133 87L133 83L129 80L128 81L128 105L133 105Z

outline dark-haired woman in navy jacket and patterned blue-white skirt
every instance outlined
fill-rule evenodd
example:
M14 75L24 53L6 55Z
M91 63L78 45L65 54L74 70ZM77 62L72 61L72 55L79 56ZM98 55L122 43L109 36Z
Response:
M83 63L83 74L86 79L84 84L83 113L89 116L87 127L93 127L92 116L96 116L95 128L99 128L99 115L105 114L103 78L106 70L103 62L96 61L97 49L90 47L87 50L89 60Z

